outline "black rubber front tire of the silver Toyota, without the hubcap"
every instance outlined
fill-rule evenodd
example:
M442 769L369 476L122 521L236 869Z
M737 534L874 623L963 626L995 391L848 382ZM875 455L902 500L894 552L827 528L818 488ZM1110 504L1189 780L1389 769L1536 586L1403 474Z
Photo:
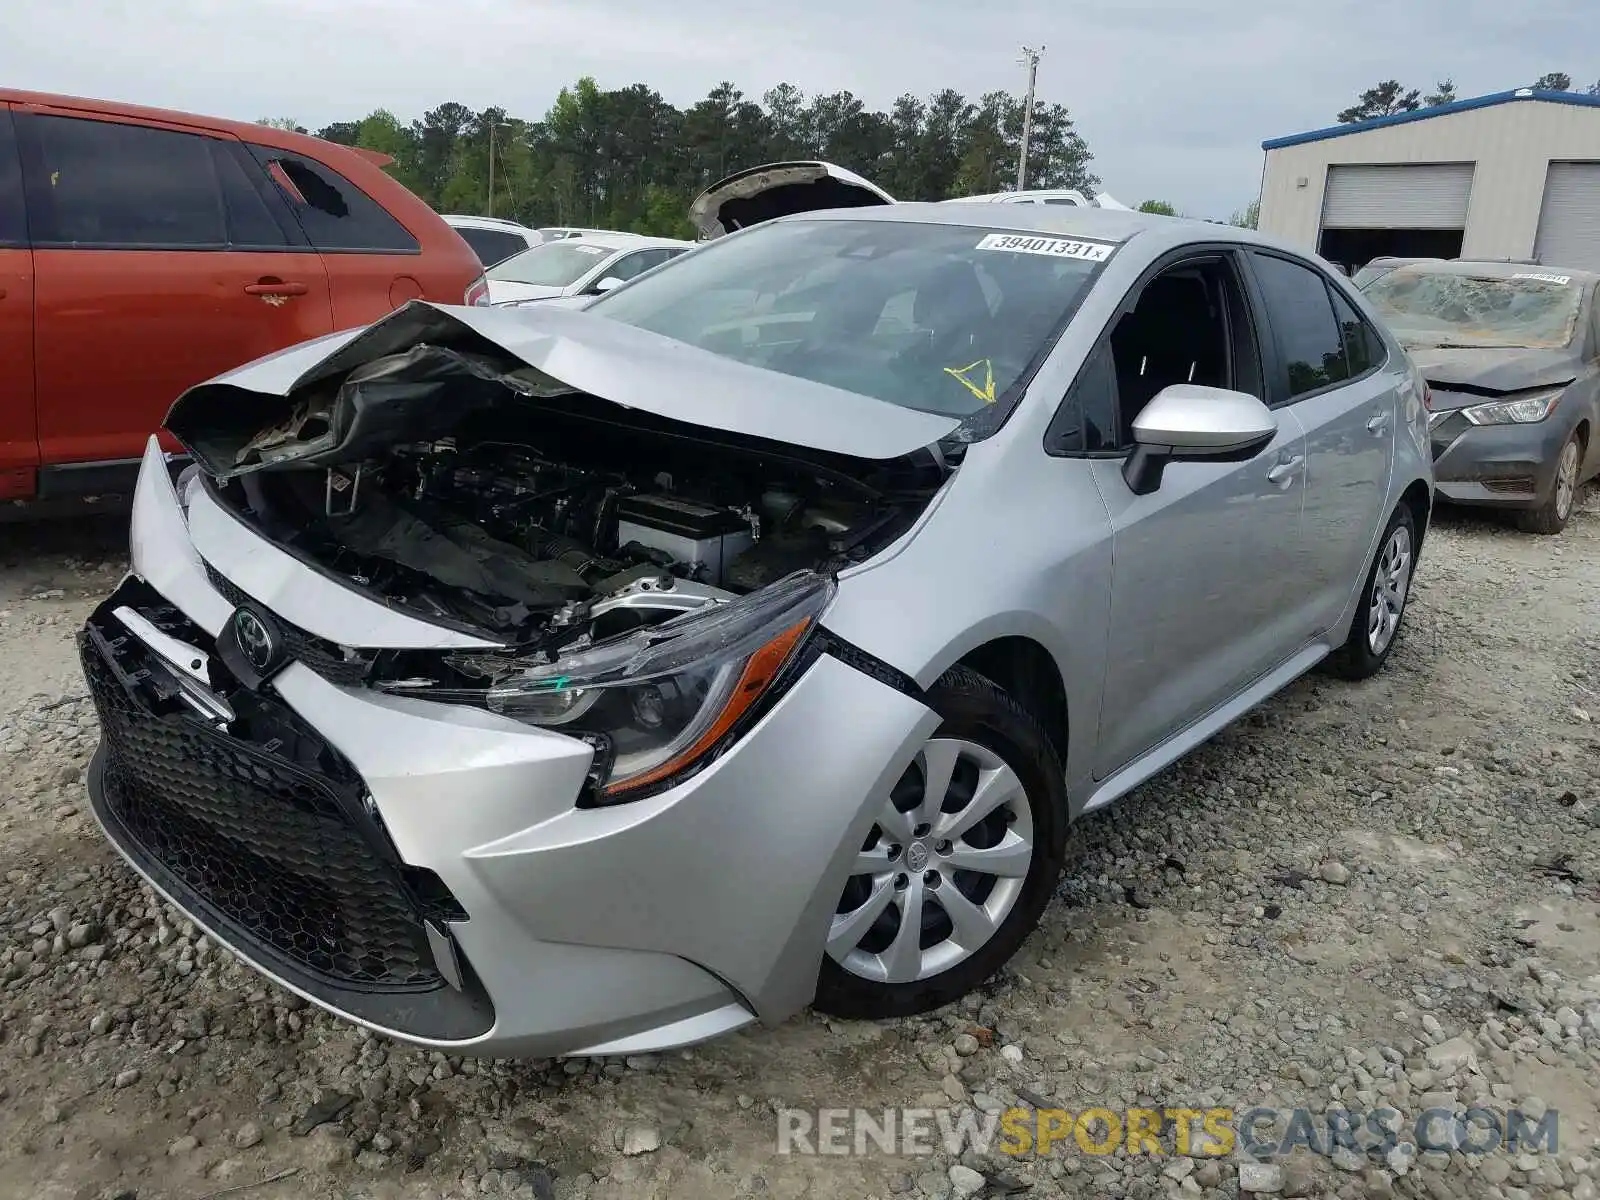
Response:
M987 678L952 667L928 690L944 722L934 738L960 738L998 755L1022 782L1034 821L1034 856L1010 914L978 950L939 974L906 984L877 982L822 955L814 1008L842 1018L882 1019L926 1013L958 1000L989 979L1038 925L1061 877L1067 837L1067 790L1050 738L1022 707Z

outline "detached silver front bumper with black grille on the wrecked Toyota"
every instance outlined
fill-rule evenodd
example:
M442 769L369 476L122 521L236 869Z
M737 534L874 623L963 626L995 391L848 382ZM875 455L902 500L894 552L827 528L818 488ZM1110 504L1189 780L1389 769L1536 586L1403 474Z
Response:
M219 509L192 517L190 534L152 442L134 578L85 634L106 730L91 798L123 856L219 942L341 1016L454 1053L659 1050L810 1002L872 798L938 723L923 704L824 654L690 781L581 810L590 750L571 738L341 686L302 661L229 693L211 650L232 605L208 566L246 590L261 576L229 562L293 571ZM317 637L368 618L389 643L438 632L342 589L298 616ZM174 682L173 645L200 651L234 720L160 698L195 691L192 674Z

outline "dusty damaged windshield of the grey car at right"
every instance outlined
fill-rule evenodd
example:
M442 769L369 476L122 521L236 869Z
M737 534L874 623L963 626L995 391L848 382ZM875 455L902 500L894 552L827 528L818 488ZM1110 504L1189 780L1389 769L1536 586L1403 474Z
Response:
M1410 349L1555 350L1573 339L1582 290L1570 275L1488 277L1397 267L1366 299Z

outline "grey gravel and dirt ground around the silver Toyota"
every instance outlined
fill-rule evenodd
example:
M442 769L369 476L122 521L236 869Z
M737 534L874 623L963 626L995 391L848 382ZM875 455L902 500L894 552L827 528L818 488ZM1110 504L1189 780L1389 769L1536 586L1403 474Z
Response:
M72 648L122 570L115 518L0 528L0 1195L1597 1197L1600 504L1558 539L1446 515L1389 669L1302 680L1085 822L960 1011L565 1064L366 1037L134 882ZM1558 1112L1558 1152L776 1152L787 1106L1475 1101Z

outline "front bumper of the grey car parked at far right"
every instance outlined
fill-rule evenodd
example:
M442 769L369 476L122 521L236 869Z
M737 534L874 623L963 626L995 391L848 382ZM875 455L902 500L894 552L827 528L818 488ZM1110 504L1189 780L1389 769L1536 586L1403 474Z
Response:
M1440 496L1502 509L1536 509L1549 501L1557 456L1571 435L1565 422L1552 416L1525 426L1474 426L1461 410L1435 418L1429 437Z

